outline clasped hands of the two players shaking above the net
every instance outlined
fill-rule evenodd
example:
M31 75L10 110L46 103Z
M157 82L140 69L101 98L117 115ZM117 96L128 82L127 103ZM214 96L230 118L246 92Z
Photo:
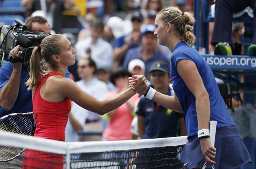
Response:
M133 87L135 91L139 94L145 94L148 85L146 77L143 75L132 75L132 77L129 77L129 87Z

